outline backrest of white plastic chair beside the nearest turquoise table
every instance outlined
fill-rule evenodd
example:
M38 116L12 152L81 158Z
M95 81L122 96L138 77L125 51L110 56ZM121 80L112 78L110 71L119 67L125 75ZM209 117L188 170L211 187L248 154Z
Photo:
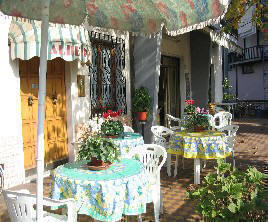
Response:
M167 159L164 147L157 144L144 144L132 149L130 156L138 157L153 180L160 180L160 170Z

